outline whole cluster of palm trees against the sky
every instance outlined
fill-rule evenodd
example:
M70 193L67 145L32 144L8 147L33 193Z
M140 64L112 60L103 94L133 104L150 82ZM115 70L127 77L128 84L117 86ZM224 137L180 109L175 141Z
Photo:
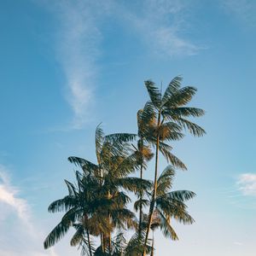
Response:
M204 111L187 107L196 89L182 87L181 82L181 77L172 79L162 94L154 82L145 81L149 100L137 112L137 134L104 135L98 125L97 163L75 156L68 158L80 171L76 172L76 183L65 180L68 195L49 205L49 212L65 214L46 237L44 248L54 246L73 228L71 246L79 246L83 255L154 255L154 230L160 229L167 238L177 240L171 219L183 224L194 222L185 202L195 193L172 190L175 169L186 170L186 166L172 154L170 142L183 138L183 131L203 136L201 126L188 118L200 117ZM160 154L169 163L161 173ZM143 177L143 172L153 159L151 181ZM135 172L139 177L131 176ZM134 211L131 194L136 198ZM129 236L131 232L133 235Z

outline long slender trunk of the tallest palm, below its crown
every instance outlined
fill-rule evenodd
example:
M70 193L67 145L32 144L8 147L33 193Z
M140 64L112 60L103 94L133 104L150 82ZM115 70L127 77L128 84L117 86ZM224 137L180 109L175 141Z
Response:
M156 199L157 178L158 178L158 154L159 154L159 142L160 142L160 135L159 135L160 117L161 117L161 113L159 111L159 113L158 113L158 121L157 121L156 147L155 147L154 190L153 190L153 195L152 195L152 199L151 199L150 207L149 207L148 228L147 228L147 233L146 233L146 236L145 236L143 256L146 255L146 246L147 246L150 226L151 226L151 223L152 223L152 217L153 217L153 212L154 212L154 203L155 203L155 199Z

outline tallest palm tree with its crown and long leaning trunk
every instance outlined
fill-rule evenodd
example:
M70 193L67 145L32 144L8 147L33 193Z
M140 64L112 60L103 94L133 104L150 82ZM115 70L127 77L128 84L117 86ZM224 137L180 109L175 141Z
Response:
M181 81L181 77L172 79L163 95L155 86L154 82L150 80L145 81L148 95L150 97L150 101L146 103L147 108L144 108L147 109L145 114L148 116L153 115L155 119L154 130L151 131L151 134L148 134L148 140L153 142L155 146L155 166L154 191L149 206L148 228L145 236L145 245L148 241L148 234L152 223L154 205L157 195L156 190L159 151L164 154L167 160L172 160L173 163L175 162L175 159L173 159L172 155L170 155L170 149L172 148L168 144L164 143L165 141L168 142L172 141L173 139L180 139L183 137L183 134L180 133L183 129L187 129L197 137L201 137L205 133L205 131L199 125L196 125L187 119L188 117L200 117L204 114L204 111L201 108L186 107L186 105L195 95L196 89L191 86L181 88ZM160 148L161 143L163 145L162 148ZM180 166L185 169L185 166ZM143 255L146 255L145 250Z

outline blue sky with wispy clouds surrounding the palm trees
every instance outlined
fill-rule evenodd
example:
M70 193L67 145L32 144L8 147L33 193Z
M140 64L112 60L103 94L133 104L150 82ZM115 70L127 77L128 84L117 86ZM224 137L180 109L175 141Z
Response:
M196 192L196 223L174 224L178 242L159 234L157 254L253 256L255 14L249 0L1 1L0 254L79 255L68 237L43 249L61 217L49 202L73 181L67 157L95 160L100 122L136 132L143 81L181 74L207 111L206 137L173 144L189 169L175 188Z

